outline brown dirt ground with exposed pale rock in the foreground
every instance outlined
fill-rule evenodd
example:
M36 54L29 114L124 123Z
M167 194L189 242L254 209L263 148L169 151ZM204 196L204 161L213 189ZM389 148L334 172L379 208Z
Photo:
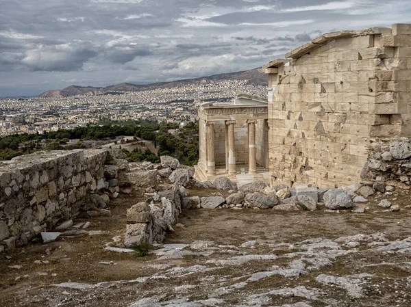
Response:
M100 235L0 254L0 306L411 306L411 209L384 212L379 198L366 213L197 209L148 256L103 250L141 200L122 195L111 217L90 219ZM390 200L411 204L408 191ZM67 282L82 286L53 286Z

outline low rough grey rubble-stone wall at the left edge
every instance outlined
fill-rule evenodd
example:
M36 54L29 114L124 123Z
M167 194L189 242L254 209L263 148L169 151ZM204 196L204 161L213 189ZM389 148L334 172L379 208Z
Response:
M0 249L71 219L88 193L118 185L108 150L54 150L0 162ZM105 174L106 173L106 174Z

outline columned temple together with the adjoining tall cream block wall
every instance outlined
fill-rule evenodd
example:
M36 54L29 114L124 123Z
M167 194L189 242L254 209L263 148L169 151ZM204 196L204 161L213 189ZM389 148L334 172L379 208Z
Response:
M268 102L201 105L201 180L343 187L375 168L375 140L411 137L410 24L323 34L260 72Z

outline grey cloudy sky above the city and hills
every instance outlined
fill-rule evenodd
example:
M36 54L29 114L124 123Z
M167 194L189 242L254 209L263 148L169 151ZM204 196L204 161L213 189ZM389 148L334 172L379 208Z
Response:
M392 23L410 0L0 0L0 96L247 70Z

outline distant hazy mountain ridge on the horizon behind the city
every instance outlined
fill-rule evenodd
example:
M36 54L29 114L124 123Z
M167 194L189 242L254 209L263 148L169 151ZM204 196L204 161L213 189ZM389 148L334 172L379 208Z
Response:
M108 95L118 94L119 92L136 92L141 90L155 90L158 88L175 88L182 85L214 83L222 80L247 80L249 84L266 85L266 75L258 72L258 68L251 70L229 72L208 77L201 77L195 79L182 79L171 82L158 82L145 85L138 85L132 83L120 83L116 85L108 85L103 88L96 88L93 86L79 86L70 85L62 90L51 90L40 94L40 97L69 97L75 95Z

